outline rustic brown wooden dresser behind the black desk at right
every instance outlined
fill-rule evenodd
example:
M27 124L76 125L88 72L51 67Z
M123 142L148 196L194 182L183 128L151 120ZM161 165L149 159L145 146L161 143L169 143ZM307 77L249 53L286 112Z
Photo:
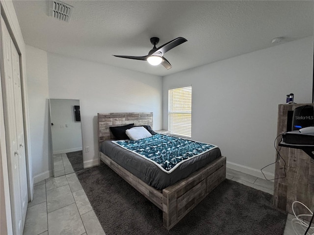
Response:
M278 107L277 135L287 132L288 111L303 105L314 104L280 104ZM288 129L289 131L289 129ZM277 139L276 147L282 140ZM292 213L292 203L299 201L313 211L314 209L314 160L300 149L281 147L281 157L286 161L287 177L275 180L274 205ZM277 152L276 152L277 156ZM284 161L280 159L275 166L275 178L284 176ZM298 208L300 213L308 213Z

